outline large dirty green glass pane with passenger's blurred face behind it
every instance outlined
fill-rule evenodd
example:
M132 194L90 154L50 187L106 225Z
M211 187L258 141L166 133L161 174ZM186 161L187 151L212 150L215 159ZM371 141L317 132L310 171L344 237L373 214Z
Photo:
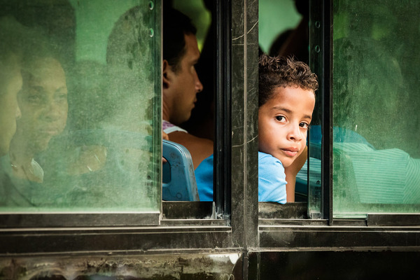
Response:
M0 6L0 211L158 213L160 2Z

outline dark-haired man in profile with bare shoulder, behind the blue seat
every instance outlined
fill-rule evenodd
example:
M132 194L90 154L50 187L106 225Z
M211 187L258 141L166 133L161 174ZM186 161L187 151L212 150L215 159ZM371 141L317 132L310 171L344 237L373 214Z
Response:
M195 27L186 15L171 8L164 10L163 131L168 134L170 141L188 149L194 167L197 168L202 160L213 153L213 141L195 137L178 126L190 118L197 101L196 94L203 88L195 71L195 64L200 58L195 32Z

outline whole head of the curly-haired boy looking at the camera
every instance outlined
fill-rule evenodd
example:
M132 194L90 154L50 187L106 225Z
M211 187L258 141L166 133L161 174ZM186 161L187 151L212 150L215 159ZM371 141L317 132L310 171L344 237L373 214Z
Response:
M318 82L307 64L284 57L262 55L259 71L258 150L288 167L306 146Z

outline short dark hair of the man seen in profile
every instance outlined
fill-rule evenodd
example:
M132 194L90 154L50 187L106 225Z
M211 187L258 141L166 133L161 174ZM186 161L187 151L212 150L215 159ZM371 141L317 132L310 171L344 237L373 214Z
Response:
M197 29L190 18L174 8L163 9L163 59L166 59L174 72L186 52L184 34L196 34Z

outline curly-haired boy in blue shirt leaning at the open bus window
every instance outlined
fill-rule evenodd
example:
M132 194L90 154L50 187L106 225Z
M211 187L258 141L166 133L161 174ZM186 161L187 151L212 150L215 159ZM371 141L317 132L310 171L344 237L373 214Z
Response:
M295 177L306 159L318 82L307 64L293 58L262 55L259 64L258 201L284 204L294 200ZM196 169L200 200L213 200L212 161Z

